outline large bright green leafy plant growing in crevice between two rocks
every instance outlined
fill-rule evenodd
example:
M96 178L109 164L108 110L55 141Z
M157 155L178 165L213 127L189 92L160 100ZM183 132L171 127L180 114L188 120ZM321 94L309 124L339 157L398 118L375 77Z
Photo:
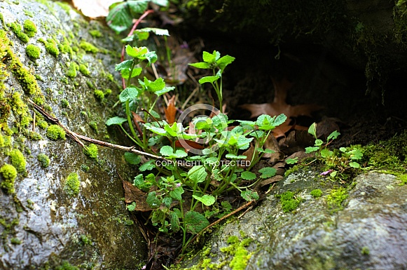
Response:
M181 231L183 251L191 238L209 225L209 219L220 218L232 210L229 201L222 200L226 194L235 194L245 201L257 200L258 194L251 188L264 178L273 177L275 168L262 168L258 174L251 168L265 153L265 141L271 131L286 121L280 116L258 116L256 121L237 121L229 131L232 121L226 114L212 118L196 117L190 125L180 121L167 123L158 114L156 104L161 95L173 90L167 87L162 78L155 81L134 77L142 73L146 63L151 65L157 60L155 52L146 47L125 47L129 60L116 65L126 88L120 93L125 117L115 116L106 121L107 126L119 126L123 132L143 151L160 153L163 160L150 160L139 166L140 174L134 177L133 184L146 192L146 203L151 208L149 220L160 232L174 234ZM235 58L221 57L216 50L204 52L204 62L191 64L201 69L212 69L213 76L200 79L200 83L211 83L222 104L222 75L225 68ZM130 130L130 131L128 131ZM188 143L202 141L200 154L187 151ZM186 143L186 144L185 144ZM196 143L195 143L196 144ZM194 145L195 145L194 144ZM242 151L254 147L252 158L242 155ZM131 153L125 154L131 164L139 164L140 158ZM137 202L128 205L129 210L136 209Z

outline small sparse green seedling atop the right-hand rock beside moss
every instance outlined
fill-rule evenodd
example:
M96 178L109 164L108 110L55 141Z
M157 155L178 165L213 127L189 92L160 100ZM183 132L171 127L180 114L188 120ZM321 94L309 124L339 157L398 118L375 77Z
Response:
M326 138L326 142L318 139L316 123L312 123L310 128L308 128L308 133L315 137L315 144L313 147L305 148L305 153L314 153L317 160L324 162L327 168L329 168L325 173L329 173L331 177L336 177L338 173L343 173L347 168L361 168L357 162L363 156L360 149L355 147L340 147L339 151L332 151L328 148L329 144L340 135L338 131L333 131Z

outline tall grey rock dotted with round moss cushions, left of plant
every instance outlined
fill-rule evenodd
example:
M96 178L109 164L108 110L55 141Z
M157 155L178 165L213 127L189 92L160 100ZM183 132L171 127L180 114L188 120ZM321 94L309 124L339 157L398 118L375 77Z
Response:
M132 170L123 153L86 156L27 106L123 143L104 125L120 91L120 39L62 2L0 1L0 13L0 168L18 173L0 169L0 269L141 268L146 243L122 200L118 175Z

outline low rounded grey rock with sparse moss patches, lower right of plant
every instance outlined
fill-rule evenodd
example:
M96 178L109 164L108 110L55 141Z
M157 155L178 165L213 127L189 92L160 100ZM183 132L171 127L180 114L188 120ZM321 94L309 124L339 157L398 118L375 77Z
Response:
M290 190L299 204L284 212L281 194ZM406 269L406 200L406 185L399 186L393 175L359 175L347 190L318 173L298 171L256 209L216 229L183 266Z

